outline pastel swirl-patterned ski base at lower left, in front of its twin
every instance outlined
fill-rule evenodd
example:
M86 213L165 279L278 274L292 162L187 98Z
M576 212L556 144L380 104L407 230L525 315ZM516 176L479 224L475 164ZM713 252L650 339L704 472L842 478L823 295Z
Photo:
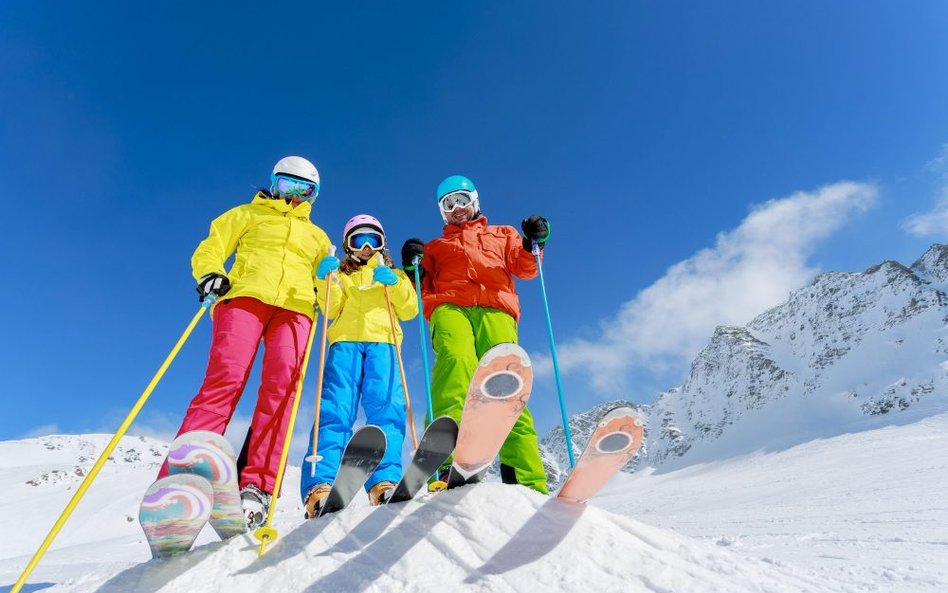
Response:
M201 476L166 476L149 486L138 511L151 555L166 558L191 549L211 516L214 489Z

